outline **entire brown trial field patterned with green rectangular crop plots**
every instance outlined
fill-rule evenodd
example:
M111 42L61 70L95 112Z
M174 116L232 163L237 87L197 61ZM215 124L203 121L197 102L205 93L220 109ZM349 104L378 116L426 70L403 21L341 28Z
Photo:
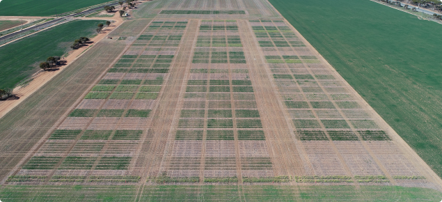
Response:
M155 0L132 15L0 119L0 201L442 196L267 0Z

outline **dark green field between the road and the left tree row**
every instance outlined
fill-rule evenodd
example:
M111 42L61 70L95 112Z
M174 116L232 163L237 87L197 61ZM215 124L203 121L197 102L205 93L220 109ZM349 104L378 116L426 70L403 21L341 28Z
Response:
M95 33L98 20L77 20L36 33L0 47L0 88L13 88L26 77L40 70L38 64L49 56L62 56L81 36Z

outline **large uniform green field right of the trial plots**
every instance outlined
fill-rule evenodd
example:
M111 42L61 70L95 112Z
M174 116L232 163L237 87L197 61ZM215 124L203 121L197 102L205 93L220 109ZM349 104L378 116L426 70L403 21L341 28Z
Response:
M269 1L442 176L442 25L368 0Z

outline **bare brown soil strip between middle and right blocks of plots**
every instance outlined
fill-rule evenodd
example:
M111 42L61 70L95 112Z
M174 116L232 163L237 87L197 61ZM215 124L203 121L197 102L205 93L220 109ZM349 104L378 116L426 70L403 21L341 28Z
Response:
M281 101L276 95L267 72L265 65L262 63L262 54L258 51L257 42L249 29L248 23L239 21L239 30L244 45L246 47L246 59L248 61L249 71L253 88L255 89L256 101L258 109L260 109L262 125L267 130L267 142L269 148L272 148L276 165L276 176L305 176L308 173L304 165L308 165L306 160L302 160L297 150L299 146L293 141L293 130L288 127L285 119L281 117L283 110L281 109ZM279 102L278 102L279 101Z

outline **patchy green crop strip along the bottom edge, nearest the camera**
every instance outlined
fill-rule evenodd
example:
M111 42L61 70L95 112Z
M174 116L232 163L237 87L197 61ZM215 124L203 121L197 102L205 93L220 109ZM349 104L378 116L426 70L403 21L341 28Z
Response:
M6 185L1 201L440 201L441 192L393 186Z

